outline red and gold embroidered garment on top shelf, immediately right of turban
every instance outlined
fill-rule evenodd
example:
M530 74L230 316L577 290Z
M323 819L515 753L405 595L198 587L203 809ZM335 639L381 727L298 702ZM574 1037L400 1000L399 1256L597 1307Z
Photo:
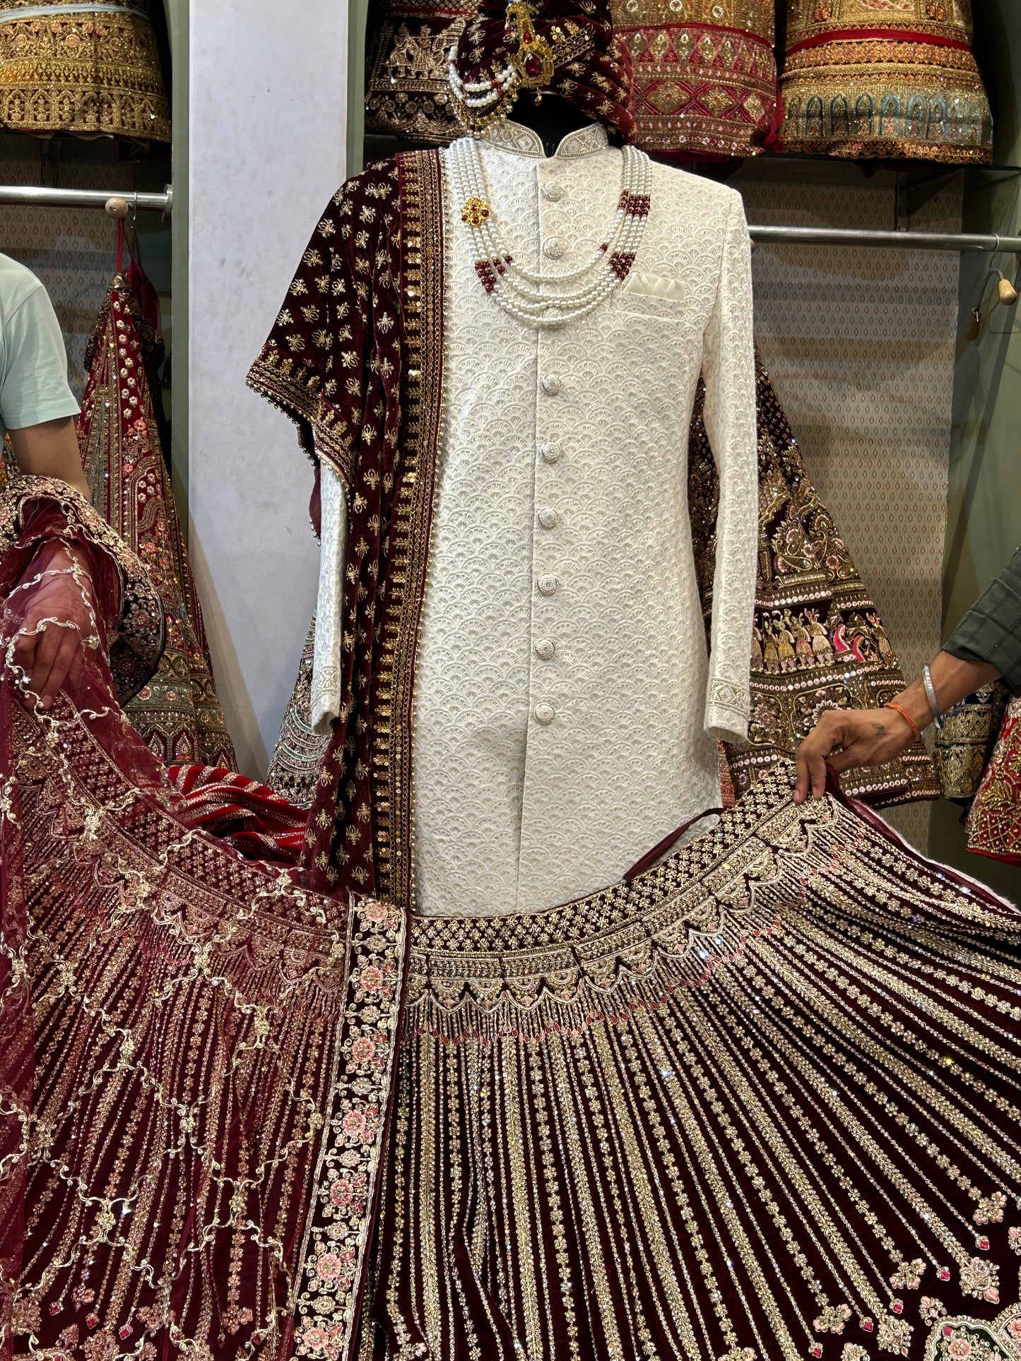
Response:
M773 129L773 0L613 0L632 54L637 143L683 157L750 157Z

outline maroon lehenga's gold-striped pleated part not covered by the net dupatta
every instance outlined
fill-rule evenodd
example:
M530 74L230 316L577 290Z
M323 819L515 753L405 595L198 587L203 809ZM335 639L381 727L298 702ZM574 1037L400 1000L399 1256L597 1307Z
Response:
M787 791L415 925L365 1356L1017 1354L1021 919Z

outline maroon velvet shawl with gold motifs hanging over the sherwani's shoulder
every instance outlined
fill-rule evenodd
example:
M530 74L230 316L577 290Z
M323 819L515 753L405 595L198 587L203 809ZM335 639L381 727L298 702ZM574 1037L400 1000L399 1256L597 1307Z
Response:
M302 864L321 891L354 889L402 906L411 893L411 687L441 416L442 237L437 152L349 180L248 380L350 491L342 712Z

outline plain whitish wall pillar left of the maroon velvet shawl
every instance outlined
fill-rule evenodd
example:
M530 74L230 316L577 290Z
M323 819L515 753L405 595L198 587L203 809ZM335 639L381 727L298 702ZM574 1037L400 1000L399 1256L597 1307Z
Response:
M344 178L344 0L191 0L191 553L241 769L265 773L316 597L312 465L245 387Z

